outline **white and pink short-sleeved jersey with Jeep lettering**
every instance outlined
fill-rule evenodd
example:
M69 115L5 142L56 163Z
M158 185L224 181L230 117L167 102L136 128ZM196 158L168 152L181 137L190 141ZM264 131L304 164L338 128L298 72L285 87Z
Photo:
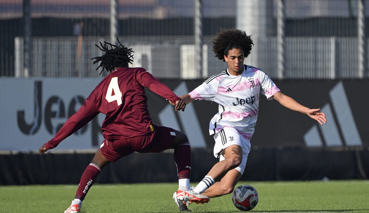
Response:
M228 69L224 70L208 78L189 94L193 99L219 104L218 113L210 121L210 135L228 126L250 140L258 119L260 94L270 100L277 91L280 91L279 88L264 71L244 64L241 75L232 76Z

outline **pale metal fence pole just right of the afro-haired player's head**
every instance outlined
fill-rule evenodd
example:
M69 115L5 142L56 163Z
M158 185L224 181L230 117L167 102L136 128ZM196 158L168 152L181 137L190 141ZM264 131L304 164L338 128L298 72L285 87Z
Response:
M283 78L284 71L284 0L277 1L277 76Z

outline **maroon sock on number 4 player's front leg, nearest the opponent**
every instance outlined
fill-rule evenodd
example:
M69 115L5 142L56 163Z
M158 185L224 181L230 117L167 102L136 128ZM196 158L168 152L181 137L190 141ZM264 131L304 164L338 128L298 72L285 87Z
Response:
M174 161L177 165L178 179L190 178L191 175L191 146L183 143L174 149Z

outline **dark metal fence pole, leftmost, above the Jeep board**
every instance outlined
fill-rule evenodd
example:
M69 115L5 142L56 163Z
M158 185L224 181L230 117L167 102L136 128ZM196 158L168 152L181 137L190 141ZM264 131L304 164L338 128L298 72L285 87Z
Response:
M32 20L31 0L23 0L23 75L32 76Z

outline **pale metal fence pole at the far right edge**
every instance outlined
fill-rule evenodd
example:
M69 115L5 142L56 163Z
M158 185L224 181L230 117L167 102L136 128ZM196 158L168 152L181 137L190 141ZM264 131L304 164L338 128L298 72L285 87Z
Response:
M365 76L364 2L358 0L358 77Z

